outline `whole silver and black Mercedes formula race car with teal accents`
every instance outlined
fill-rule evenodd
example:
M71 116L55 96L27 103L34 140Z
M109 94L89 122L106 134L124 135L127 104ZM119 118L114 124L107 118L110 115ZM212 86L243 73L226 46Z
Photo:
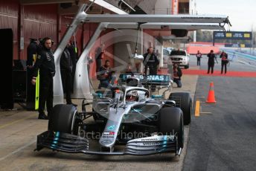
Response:
M171 82L167 75L121 74L118 86L111 91L96 91L91 102L83 100L82 112L72 105L54 106L48 131L37 136L36 150L47 147L91 155L180 155L184 124L191 123L192 102L187 92L171 93L164 99ZM167 90L163 95L150 96L151 86ZM88 112L90 105L92 111Z

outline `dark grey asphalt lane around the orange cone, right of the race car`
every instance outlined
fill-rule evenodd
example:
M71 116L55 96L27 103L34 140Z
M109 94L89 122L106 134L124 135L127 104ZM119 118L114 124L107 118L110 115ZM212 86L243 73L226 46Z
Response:
M248 59L240 61L244 58L231 62L228 69L256 71L255 65L246 64ZM220 72L220 64L215 68ZM206 57L202 59L201 69L206 69ZM211 81L216 104L204 103ZM255 92L256 78L199 76L195 100L202 102L202 113L192 118L184 171L255 170Z

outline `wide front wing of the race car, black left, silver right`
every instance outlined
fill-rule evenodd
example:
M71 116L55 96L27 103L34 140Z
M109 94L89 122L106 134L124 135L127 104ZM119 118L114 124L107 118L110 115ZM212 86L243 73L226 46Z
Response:
M84 153L89 155L153 155L164 152L175 152L179 155L178 141L175 135L154 135L128 141L121 152L104 152L89 150L89 140L77 135L62 132L46 131L37 135L36 151L42 148L69 153Z

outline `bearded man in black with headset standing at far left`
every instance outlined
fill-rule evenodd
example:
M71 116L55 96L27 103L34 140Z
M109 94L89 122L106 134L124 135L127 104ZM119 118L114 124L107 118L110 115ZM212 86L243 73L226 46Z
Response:
M52 40L45 37L42 40L42 51L39 51L36 57L35 65L33 65L33 78L31 83L36 84L36 77L39 70L39 119L48 119L53 109L54 101L54 84L53 77L55 75L54 54L51 51ZM45 115L45 102L48 117Z

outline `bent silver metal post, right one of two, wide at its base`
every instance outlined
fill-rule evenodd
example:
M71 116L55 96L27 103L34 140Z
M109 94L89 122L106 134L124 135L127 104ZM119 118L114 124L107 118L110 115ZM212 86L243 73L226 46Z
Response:
M92 49L93 45L95 45L95 42L100 36L101 31L104 30L107 25L108 23L102 22L97 26L95 33L93 34L89 43L86 45L86 48L84 48L79 60L77 61L77 68L74 74L74 93L72 94L72 98L92 99L87 70L87 55L89 54L89 51Z

